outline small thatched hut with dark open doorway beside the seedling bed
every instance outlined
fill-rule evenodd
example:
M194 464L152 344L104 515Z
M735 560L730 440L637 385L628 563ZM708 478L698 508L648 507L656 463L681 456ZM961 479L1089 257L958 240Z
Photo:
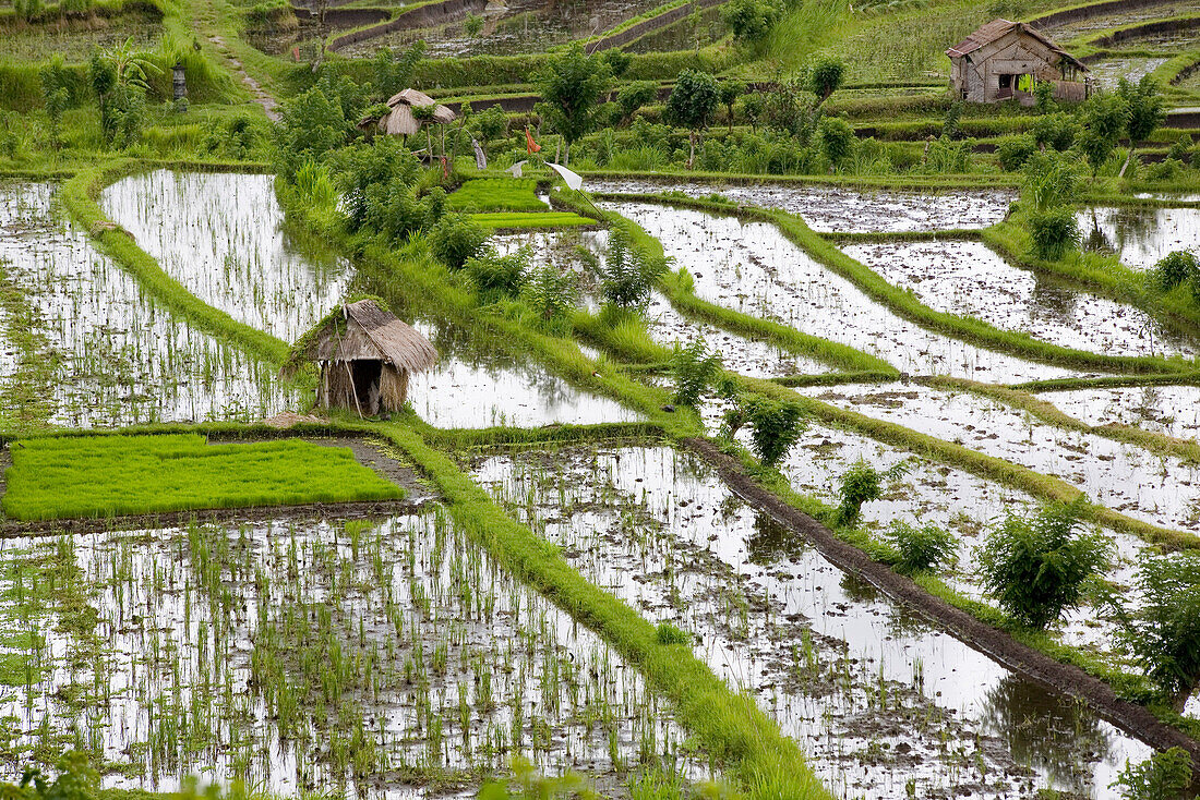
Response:
M320 363L317 404L366 416L398 411L408 399L408 377L438 360L420 331L372 300L346 303L296 343L284 371Z

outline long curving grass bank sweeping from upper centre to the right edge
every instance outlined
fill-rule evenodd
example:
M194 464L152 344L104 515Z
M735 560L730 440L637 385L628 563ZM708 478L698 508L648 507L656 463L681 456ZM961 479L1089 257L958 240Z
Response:
M624 194L624 199L662 205L698 209L712 213L734 216L740 219L774 224L784 236L814 260L846 278L869 297L876 300L898 315L936 333L952 336L1000 353L1022 359L1066 367L1086 367L1118 373L1166 373L1194 371L1195 366L1183 360L1166 360L1156 356L1110 356L1086 350L1050 344L1027 333L1006 331L983 320L934 311L904 289L884 281L877 272L850 258L829 241L810 229L803 219L785 211L731 206L713 200L678 198L659 194Z

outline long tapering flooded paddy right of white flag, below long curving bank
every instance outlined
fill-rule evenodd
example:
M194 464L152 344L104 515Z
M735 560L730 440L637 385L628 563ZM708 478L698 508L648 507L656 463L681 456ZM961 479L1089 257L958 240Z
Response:
M984 350L901 319L766 223L644 203L607 207L658 236L696 294L872 353L910 374L1010 383L1079 374Z

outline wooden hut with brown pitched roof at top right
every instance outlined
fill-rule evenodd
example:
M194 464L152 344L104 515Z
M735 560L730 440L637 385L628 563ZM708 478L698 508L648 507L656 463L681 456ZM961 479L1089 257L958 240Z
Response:
M954 95L970 103L1032 106L1038 82L1054 85L1055 100L1082 101L1090 92L1087 67L1025 23L995 19L946 55Z

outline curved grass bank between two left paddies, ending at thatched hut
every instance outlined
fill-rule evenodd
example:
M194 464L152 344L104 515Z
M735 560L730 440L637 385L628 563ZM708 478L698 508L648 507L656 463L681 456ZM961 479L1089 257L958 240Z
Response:
M286 342L239 323L193 295L138 247L128 233L104 216L95 199L101 188L138 168L138 162L134 161L114 161L102 167L83 169L62 185L59 197L72 218L91 234L101 252L130 272L155 301L198 330L236 344L264 361L283 363L289 349Z

